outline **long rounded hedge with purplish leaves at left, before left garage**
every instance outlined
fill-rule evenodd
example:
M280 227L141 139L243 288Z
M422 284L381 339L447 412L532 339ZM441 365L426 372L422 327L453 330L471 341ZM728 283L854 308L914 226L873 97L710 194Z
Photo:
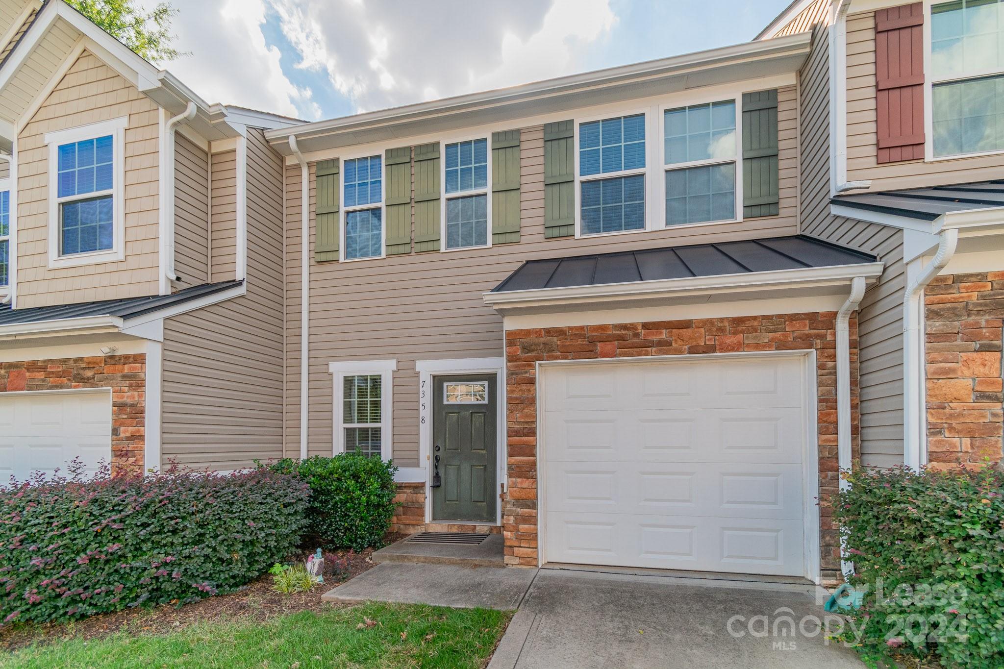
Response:
M296 550L308 496L263 469L0 487L0 625L233 591Z

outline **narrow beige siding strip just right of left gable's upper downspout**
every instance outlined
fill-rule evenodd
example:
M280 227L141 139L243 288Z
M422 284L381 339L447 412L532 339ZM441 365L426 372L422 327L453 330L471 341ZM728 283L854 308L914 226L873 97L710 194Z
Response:
M177 287L209 281L209 155L175 133L175 273Z

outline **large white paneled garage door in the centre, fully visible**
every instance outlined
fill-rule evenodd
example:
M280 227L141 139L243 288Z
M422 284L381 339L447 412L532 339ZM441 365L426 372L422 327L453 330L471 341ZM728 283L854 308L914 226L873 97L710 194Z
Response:
M544 560L808 576L802 364L546 368Z

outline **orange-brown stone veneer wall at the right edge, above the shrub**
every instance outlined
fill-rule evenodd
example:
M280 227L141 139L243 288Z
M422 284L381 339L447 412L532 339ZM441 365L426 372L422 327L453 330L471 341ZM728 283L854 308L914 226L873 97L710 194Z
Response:
M928 461L1000 461L1004 272L935 277L924 303Z

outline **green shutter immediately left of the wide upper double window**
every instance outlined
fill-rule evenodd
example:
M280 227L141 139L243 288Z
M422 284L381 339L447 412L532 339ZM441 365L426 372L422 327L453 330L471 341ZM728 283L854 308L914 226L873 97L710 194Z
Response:
M544 237L575 234L574 121L544 125Z

